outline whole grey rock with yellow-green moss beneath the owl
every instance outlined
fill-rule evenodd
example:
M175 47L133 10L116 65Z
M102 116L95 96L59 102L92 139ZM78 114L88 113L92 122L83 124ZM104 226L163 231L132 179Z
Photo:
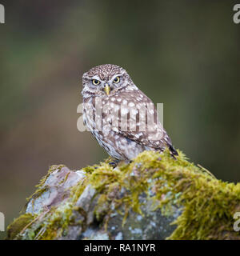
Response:
M115 168L51 166L7 239L240 239L240 183L178 154L145 151Z

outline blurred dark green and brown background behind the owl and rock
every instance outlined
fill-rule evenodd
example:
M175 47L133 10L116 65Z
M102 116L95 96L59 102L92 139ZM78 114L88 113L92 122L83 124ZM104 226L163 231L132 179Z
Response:
M0 211L6 225L48 167L106 153L77 130L81 77L124 67L164 102L174 146L239 182L240 24L231 1L3 1L0 24ZM3 238L4 233L0 234Z

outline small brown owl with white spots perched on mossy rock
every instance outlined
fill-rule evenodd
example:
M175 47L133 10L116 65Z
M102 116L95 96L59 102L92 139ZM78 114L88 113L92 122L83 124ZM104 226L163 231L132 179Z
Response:
M131 161L144 150L178 152L154 103L120 66L95 66L82 76L83 122L116 161Z

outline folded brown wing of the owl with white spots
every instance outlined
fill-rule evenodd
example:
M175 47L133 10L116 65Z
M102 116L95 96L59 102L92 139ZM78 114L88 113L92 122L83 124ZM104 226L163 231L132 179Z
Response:
M171 154L177 155L166 130L158 121L157 110L150 98L141 90L125 91L119 94L120 97L121 102L118 98L116 100L121 103L121 122L115 132L152 150L168 147ZM126 118L122 118L122 113Z

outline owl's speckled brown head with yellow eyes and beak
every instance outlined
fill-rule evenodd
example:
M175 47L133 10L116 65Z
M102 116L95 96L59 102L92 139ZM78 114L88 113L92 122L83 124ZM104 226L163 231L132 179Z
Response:
M94 66L82 76L83 98L116 94L132 83L122 67L113 64Z

